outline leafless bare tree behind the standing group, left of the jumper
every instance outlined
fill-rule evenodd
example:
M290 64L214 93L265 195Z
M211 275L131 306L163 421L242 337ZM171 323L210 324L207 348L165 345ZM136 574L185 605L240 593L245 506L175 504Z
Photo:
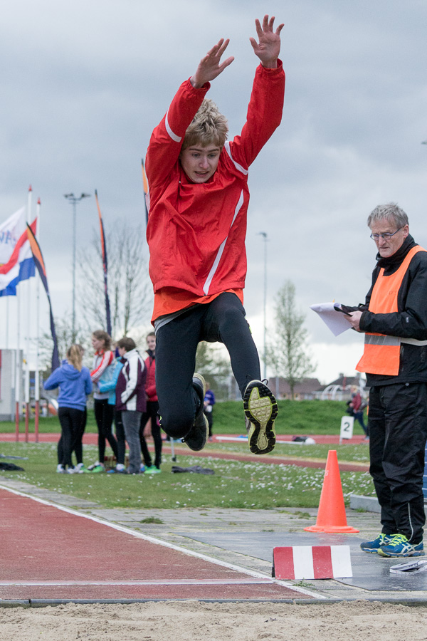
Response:
M106 234L108 293L112 335L127 335L135 326L149 323L152 286L148 274L148 249L144 228L115 222ZM78 310L90 330L106 329L105 292L99 232L94 230L88 248L78 256Z

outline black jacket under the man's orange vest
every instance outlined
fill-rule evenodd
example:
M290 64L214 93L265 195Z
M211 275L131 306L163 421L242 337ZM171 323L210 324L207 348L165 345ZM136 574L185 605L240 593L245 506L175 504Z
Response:
M360 328L364 332L427 340L427 251L418 251L409 264L397 295L398 311L389 314L374 314L367 311L372 288L381 267L384 267L384 276L391 275L399 268L408 251L415 245L416 242L412 236L408 236L393 256L383 259L377 254L371 288L367 293L365 305L362 306L365 311L360 318ZM398 375L385 376L367 373L367 385L427 381L427 345L402 343L400 356Z

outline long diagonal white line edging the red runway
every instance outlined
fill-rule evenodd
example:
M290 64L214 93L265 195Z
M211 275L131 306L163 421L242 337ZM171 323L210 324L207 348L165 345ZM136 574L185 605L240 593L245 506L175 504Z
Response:
M306 590L305 588L300 588L299 586L292 585L291 583L287 583L286 581L283 581L283 580L280 581L273 577L272 578L266 577L265 574L261 574L260 572L255 572L255 570L248 570L247 568L242 568L241 566L235 566L233 563L226 563L226 561L221 561L218 558L214 558L212 556L206 556L206 554L201 554L199 552L187 550L186 548L181 548L181 546L175 546L174 543L168 543L167 541L162 541L159 538L154 538L154 536L149 536L147 534L143 534L142 532L137 532L135 530L132 530L131 528L126 528L124 526L117 525L117 523L104 521L102 518L98 518L97 516L91 516L90 514L82 514L77 510L73 510L63 505L58 505L56 503L52 503L51 501L46 501L45 499L39 499L38 496L31 496L31 494L26 494L25 492L20 492L19 490L14 490L1 484L0 484L0 489L4 489L8 492L11 492L11 494L16 494L17 496L23 496L25 499L31 499L43 505L54 507L58 510L62 510L63 512L67 512L68 514L73 514L74 516L80 516L81 518L88 518L89 521L95 521L95 523L100 523L100 525L107 526L109 528L118 530L120 532L125 532L126 534L130 534L132 536L135 536L136 538L142 538L144 541L149 541L150 543L154 543L154 545L163 546L164 548L170 548L172 550L176 550L177 552L181 552L183 554L186 554L187 556L194 556L196 558L203 559L203 561L214 563L216 566L222 566L223 568L235 570L236 572L241 572L243 574L253 576L254 578L265 579L268 581L268 583L275 583L277 585L281 585L283 588L289 588L290 590L295 590L295 592L306 594L308 596L311 596L312 598L325 599L325 600L327 599L327 597L325 597L324 595L320 595L318 593L312 592L311 590Z

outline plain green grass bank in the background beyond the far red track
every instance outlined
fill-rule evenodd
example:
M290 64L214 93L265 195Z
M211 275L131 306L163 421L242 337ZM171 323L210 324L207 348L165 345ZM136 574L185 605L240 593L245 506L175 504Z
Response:
M341 418L345 415L344 401L280 400L279 415L275 422L278 434L339 434ZM34 431L34 419L30 421ZM60 432L57 417L40 418L41 432ZM15 424L1 422L0 432L14 432ZM23 422L20 431L23 432ZM87 432L96 432L93 410L88 411ZM216 403L214 407L215 434L246 434L243 404L239 401ZM362 427L354 424L354 434L363 434Z

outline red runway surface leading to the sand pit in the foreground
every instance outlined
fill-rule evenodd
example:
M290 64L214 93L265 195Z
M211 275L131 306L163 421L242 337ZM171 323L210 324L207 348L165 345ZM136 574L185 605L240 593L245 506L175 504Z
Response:
M301 599L258 573L0 489L0 600Z

